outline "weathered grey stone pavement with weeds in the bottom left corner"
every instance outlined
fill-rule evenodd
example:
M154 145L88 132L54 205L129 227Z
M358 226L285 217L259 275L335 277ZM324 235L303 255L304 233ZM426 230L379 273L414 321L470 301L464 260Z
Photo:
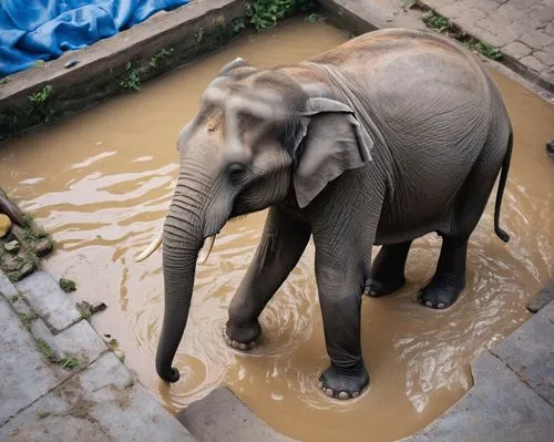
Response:
M47 273L0 271L0 440L193 441L74 304Z

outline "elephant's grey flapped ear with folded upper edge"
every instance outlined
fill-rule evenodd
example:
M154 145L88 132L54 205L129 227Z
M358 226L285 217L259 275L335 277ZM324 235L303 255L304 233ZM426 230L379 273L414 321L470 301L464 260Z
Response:
M329 99L308 99L300 117L302 131L294 186L300 208L306 207L327 184L345 171L371 161L373 141L353 111Z

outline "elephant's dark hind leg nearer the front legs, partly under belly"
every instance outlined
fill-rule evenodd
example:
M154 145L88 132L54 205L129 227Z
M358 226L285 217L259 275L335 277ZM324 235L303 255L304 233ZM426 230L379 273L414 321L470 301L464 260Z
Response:
M404 267L412 241L383 245L371 267L367 292L371 297L392 294L406 284Z

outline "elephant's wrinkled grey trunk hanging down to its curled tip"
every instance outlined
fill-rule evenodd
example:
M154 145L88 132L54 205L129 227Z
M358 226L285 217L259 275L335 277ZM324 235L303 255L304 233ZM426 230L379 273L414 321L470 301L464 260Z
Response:
M167 382L176 382L179 378L178 370L172 367L172 362L188 318L196 260L204 243L199 199L197 195L191 196L191 191L179 192L181 188L177 184L163 232L165 306L156 352L156 371Z

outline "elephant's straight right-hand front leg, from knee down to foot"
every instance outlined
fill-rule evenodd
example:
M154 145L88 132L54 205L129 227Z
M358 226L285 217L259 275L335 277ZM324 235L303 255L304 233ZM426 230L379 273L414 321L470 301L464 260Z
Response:
M350 399L369 384L360 345L360 310L363 292L362 271L356 263L316 258L319 299L324 317L330 367L319 378L319 388L328 397Z

